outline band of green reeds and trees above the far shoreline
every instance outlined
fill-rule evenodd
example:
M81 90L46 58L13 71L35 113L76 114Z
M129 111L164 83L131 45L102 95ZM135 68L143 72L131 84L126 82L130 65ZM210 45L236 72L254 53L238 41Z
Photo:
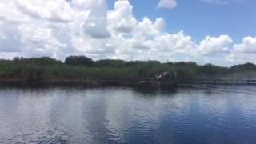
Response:
M93 61L85 56L70 56L65 62L54 58L14 58L0 60L0 78L78 79L104 78L138 80L154 78L156 74L169 72L179 81L190 78L254 78L256 65L222 67L194 62L131 61L103 59Z

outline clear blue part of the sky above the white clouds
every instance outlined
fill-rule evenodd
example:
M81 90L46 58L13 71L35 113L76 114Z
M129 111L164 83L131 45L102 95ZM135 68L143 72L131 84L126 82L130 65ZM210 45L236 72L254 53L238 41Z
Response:
M110 8L114 0L109 0ZM134 16L155 19L164 18L166 31L177 33L184 30L200 41L207 35L228 34L240 42L248 35L256 35L256 1L230 0L226 4L202 2L201 0L178 0L174 9L158 9L158 0L130 0Z

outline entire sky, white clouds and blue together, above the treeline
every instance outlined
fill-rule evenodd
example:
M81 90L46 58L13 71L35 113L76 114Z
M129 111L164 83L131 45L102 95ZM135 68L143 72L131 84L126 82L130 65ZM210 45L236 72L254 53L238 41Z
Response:
M0 0L0 58L256 63L254 0Z

